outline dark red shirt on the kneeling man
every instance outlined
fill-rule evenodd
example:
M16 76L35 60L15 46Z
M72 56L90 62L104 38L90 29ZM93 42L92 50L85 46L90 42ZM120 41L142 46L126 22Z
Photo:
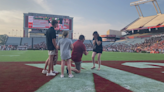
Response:
M72 51L72 60L74 62L80 62L84 51L86 51L86 47L82 41L77 40L76 42L74 42L73 51Z

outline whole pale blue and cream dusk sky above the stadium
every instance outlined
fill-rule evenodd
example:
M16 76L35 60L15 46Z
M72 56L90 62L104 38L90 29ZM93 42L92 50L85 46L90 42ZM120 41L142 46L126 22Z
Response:
M23 36L23 13L66 15L74 18L74 33L92 38L109 29L120 30L135 19L138 13L131 2L137 0L1 0L0 34ZM164 0L157 0L164 13ZM156 15L152 3L140 5L144 16ZM12 30L18 30L12 34ZM76 36L77 38L77 36Z

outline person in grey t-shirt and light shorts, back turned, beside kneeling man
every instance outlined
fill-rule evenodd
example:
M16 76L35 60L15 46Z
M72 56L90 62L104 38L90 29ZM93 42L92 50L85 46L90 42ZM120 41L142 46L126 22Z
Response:
M61 75L60 77L64 77L64 66L65 62L67 63L69 76L70 78L74 77L71 71L71 49L73 49L72 40L68 39L69 33L68 31L64 31L62 34L63 38L58 42L58 49L60 48L60 56L61 56Z

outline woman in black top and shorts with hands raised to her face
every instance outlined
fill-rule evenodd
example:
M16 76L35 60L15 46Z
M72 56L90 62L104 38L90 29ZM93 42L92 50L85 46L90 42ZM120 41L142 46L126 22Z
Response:
M92 53L92 62L93 62L93 67L91 69L95 68L95 56L98 54L98 70L100 70L100 65L101 65L101 54L103 52L103 47L102 47L102 38L99 36L98 32L95 31L93 33L93 53Z

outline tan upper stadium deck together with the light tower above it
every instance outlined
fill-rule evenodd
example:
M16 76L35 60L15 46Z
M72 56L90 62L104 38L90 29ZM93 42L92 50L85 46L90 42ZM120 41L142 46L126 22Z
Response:
M144 17L142 11L139 7L140 4L152 2L154 8L157 12L157 15ZM156 3L156 5L155 5ZM121 31L133 31L133 30L142 30L142 29L151 29L151 28L160 28L164 27L164 14L161 13L161 10L158 6L157 0L139 0L136 2L130 3L131 6L135 6L138 12L139 18L133 21L131 24L123 28ZM157 10L157 7L158 10ZM139 8L139 9L138 9Z

